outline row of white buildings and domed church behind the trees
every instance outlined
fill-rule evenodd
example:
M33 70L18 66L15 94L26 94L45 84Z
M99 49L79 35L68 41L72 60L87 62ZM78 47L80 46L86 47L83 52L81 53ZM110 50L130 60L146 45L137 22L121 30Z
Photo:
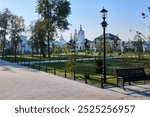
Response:
M115 38L116 38L116 35L106 33L106 41L110 44L111 47L113 47ZM22 45L20 47L18 47L17 50L18 51L21 50L22 53L31 52L31 49L30 49L30 47L28 46L28 43L27 43L27 37L22 35L21 40L22 40ZM85 40L86 40L86 38L85 38L85 31L83 30L82 25L80 25L80 28L79 28L78 31L75 30L74 34L70 35L70 40L75 40L75 42L76 42L76 51L77 52L85 51ZM103 40L103 35L100 35L100 36L96 37L95 39L93 39L93 41L88 40L88 43L90 45L90 50L93 51L93 52L98 51L98 46L97 46L96 42L99 42L99 41L102 41L102 40ZM63 38L62 34L61 34L59 40L55 41L54 43L58 46L61 46L61 47L67 45L67 41ZM118 43L118 50L120 50L120 52L124 52L125 48L134 48L133 46L129 47L129 43L126 43L125 41L122 41L122 39L120 39L120 38L117 41L117 43ZM144 46L143 51L150 50L150 42L149 43L144 43L144 45L145 46Z

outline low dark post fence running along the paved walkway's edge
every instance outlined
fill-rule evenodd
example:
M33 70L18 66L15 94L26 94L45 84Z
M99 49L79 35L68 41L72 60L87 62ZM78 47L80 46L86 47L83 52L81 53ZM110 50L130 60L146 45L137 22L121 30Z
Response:
M60 70L60 69L51 68L48 66L42 66L40 65L40 63L31 64L30 62L28 62L27 64L26 62L20 62L20 63L18 62L18 64L26 66L28 68L37 69L39 71L45 71L46 73L52 73L54 75L62 76L64 78L78 80L78 81L84 82L85 84L96 85L98 87L100 86L101 88L104 88L104 85L111 84L111 83L105 84L102 76L99 76L99 78L96 78L94 75L90 75L88 73L83 73L83 74L77 74L76 72L70 73L70 72L67 72L66 69ZM111 85L114 85L114 84L111 84Z

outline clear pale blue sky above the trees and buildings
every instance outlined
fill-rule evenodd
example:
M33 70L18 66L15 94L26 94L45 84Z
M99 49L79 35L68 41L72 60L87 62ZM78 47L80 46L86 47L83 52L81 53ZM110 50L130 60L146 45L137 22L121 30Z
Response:
M103 34L100 25L102 22L100 11L104 7L108 10L106 33L119 35L123 40L133 40L135 31L140 31L145 36L150 35L150 13L148 7L150 0L70 0L71 15L68 17L70 30L58 32L68 41L74 30L79 30L82 25L85 37L93 40ZM25 24L38 19L36 13L37 0L0 0L0 11L8 8L13 14L23 16ZM142 12L149 15L142 18ZM132 29L132 31L130 31Z

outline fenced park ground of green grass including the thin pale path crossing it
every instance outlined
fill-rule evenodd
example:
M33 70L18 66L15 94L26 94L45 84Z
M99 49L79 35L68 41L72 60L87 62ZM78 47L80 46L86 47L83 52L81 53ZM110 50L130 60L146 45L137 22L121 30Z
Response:
M116 54L117 55L117 54ZM127 56L128 55L128 56ZM80 82L85 82L90 85L101 87L101 78L103 73L96 72L96 61L102 58L102 56L84 56L84 54L76 55L76 61L69 63L69 56L60 55L52 56L50 59L36 56L23 56L17 57L17 64L24 65L29 68L37 69L52 73L54 75L62 76L68 79L74 79ZM13 62L14 58L11 56L3 58L4 60ZM101 59L102 60L102 59ZM107 56L106 60L106 74L107 83L104 87L116 86L116 74L115 69L125 68L144 68L146 74L150 74L150 58L149 56L142 56L140 59L138 56L131 54L124 54L124 56ZM100 64L102 68L103 63ZM71 70L69 70L69 69ZM88 75L87 79L85 77ZM143 81L142 81L143 82Z

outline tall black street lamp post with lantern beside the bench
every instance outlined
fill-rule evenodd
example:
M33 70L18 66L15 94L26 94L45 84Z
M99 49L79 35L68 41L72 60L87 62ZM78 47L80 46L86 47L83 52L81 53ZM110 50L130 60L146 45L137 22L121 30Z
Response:
M100 13L102 14L102 19L103 19L103 21L102 21L102 23L101 23L101 25L102 25L102 27L103 27L103 38L104 38L104 41L103 41L103 55L104 55L104 58L103 58L103 75L104 75L104 83L106 83L106 34L105 34L105 29L106 29L106 27L107 27L107 22L105 21L105 19L106 19L106 17L107 17L107 10L106 9L102 9L101 11L100 11Z

